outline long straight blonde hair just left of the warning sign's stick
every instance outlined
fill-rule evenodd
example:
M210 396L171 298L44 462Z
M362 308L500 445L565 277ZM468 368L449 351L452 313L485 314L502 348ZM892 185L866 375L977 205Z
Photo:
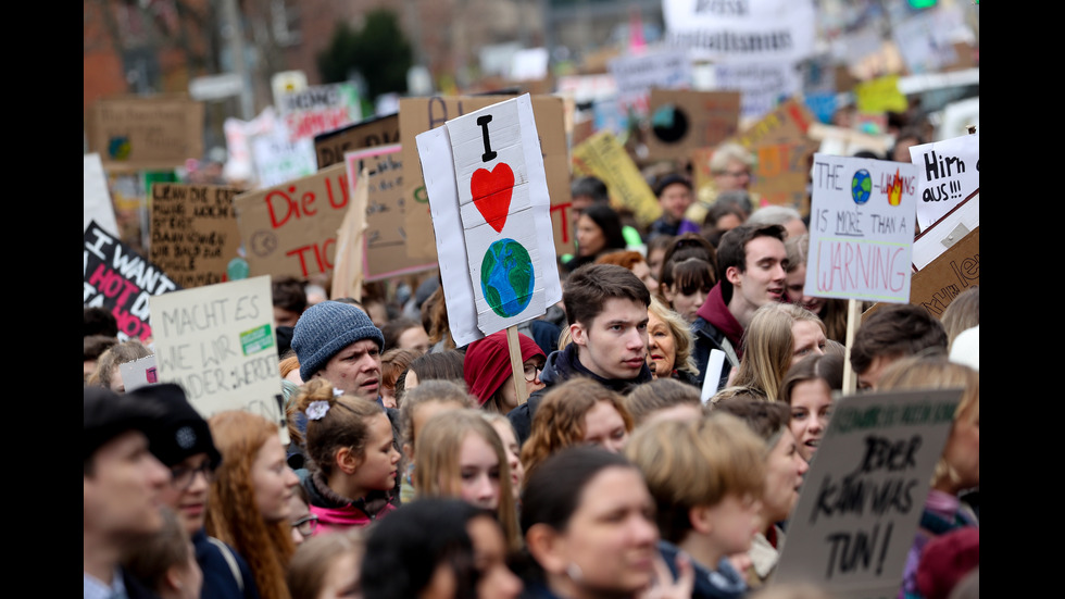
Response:
M759 308L743 332L743 358L732 385L754 388L770 401L780 399L780 383L794 354L791 327L800 321L817 323L826 333L817 314L801 305L770 302Z

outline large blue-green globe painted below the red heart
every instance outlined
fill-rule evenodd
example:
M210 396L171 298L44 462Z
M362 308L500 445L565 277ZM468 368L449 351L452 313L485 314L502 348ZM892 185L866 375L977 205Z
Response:
M525 246L504 238L493 242L480 263L480 288L492 312L511 317L532 299L532 260Z

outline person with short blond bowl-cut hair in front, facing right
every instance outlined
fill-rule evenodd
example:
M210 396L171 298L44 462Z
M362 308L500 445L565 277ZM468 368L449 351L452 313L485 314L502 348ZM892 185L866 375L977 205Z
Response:
M681 551L692 559L692 599L748 594L728 556L750 550L760 528L762 447L739 419L717 412L696 421L653 422L638 428L625 448L654 497L666 563Z

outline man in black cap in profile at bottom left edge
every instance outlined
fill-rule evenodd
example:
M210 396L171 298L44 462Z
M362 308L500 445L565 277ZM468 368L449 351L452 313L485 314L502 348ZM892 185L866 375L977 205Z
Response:
M84 388L83 402L84 596L154 597L120 560L133 539L163 526L159 501L170 472L148 451L159 408L101 387Z

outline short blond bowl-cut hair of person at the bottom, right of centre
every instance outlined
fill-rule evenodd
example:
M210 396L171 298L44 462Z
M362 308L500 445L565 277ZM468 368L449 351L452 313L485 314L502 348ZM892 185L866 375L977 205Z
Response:
M674 544L692 529L689 511L728 496L762 497L764 441L728 413L698 421L655 421L637 427L625 456L643 472L657 504L659 531Z

